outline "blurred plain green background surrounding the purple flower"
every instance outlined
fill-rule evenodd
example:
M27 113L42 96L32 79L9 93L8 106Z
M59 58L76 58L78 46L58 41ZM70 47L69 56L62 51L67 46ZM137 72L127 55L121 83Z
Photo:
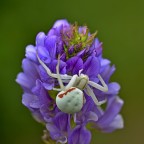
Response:
M22 71L26 45L63 18L98 30L104 57L117 68L112 80L122 86L125 128L112 134L93 132L92 144L143 144L143 0L0 0L0 144L42 144L43 127L21 104L15 78Z

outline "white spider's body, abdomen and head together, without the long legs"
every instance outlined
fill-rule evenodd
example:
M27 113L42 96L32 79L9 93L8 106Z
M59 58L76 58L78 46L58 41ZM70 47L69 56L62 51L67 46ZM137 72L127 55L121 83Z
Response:
M87 85L88 77L81 74L80 76L74 75L65 86L65 90L55 89L61 91L56 97L56 104L58 108L65 113L79 112L84 104L85 98L83 89Z

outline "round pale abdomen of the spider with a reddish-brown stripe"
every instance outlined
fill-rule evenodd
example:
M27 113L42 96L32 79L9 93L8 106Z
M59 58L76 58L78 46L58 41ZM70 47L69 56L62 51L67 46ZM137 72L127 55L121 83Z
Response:
M79 112L84 103L83 92L76 88L71 87L67 91L61 91L56 97L57 107L65 113L76 113Z

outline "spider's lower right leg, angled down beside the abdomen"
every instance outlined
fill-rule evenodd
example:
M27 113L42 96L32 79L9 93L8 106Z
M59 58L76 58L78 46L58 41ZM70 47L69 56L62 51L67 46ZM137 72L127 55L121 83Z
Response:
M103 103L106 102L106 100L99 102L98 99L96 98L93 90L92 90L88 85L86 86L85 89L86 89L86 91L85 91L86 94L89 95L89 96L91 96L91 98L93 99L93 101L94 101L94 103L95 103L96 105L100 106L101 104L103 104Z

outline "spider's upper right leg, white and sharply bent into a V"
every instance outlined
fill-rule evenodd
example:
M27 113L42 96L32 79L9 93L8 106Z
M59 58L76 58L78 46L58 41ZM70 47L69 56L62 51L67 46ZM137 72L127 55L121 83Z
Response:
M99 74L98 74L98 78L99 78L100 82L102 83L102 86L93 81L88 81L88 84L94 88L97 88L97 89L103 91L103 92L107 92L108 86L106 85L106 83L104 82L104 80L102 79L102 77Z

